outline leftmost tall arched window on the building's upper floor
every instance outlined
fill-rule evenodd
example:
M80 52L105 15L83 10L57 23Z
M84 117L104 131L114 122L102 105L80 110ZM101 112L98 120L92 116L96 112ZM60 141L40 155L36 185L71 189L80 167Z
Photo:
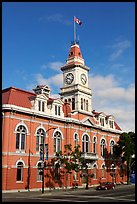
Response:
M26 134L26 128L23 125L20 125L16 132L16 149L25 150Z

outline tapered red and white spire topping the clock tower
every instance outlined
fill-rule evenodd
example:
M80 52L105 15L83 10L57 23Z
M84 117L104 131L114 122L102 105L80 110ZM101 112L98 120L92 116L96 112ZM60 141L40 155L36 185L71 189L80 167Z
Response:
M84 59L80 51L80 47L77 42L73 42L69 51L67 64L82 64L84 65Z

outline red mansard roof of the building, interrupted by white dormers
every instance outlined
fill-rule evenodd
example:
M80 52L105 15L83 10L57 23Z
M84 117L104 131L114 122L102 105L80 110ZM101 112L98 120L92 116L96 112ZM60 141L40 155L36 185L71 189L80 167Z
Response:
M31 109L32 108L31 101L34 100L36 97L37 97L37 94L33 92L22 90L15 87L9 87L2 90L2 104L12 104L23 108ZM55 99L55 98L49 97L48 103L52 103L54 100L61 100L61 99L59 98ZM63 112L64 112L64 117L75 118L73 114L71 115L71 109L69 104L67 106L65 106L65 104L63 105ZM104 112L92 111L92 113L93 113L92 118L90 117L83 118L81 122L83 122L84 124L92 124L93 126L94 125L96 126L97 122L94 117L102 113L103 115L106 115ZM106 117L110 117L110 116L112 115L106 115ZM114 125L116 130L122 131L122 129L118 126L118 124L115 121L114 121Z

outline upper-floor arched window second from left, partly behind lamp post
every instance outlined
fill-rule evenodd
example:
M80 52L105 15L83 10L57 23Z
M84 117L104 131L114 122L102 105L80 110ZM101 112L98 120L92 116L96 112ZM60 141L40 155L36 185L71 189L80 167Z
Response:
M45 131L40 128L37 131L37 135L36 135L36 151L40 151L40 145L43 144L43 137L45 137Z

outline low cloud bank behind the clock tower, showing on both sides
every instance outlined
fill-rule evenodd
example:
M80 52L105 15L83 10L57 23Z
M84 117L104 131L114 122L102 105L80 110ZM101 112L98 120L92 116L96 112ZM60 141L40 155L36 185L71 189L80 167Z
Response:
M59 98L57 93L63 86L62 73L51 77L38 73L35 74L34 81L35 85L48 85L51 89L51 96ZM30 84L30 87L35 86ZM92 109L113 115L123 131L135 132L135 84L123 88L113 75L89 74L89 87L92 90Z

